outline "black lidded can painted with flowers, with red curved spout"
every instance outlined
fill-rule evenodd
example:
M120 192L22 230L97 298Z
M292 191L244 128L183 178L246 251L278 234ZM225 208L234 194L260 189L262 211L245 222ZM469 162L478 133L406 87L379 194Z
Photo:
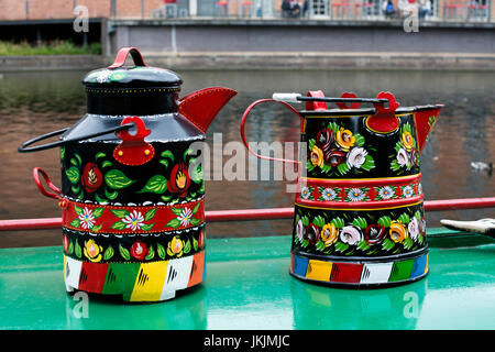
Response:
M124 66L128 55L134 66ZM182 82L123 48L113 65L84 78L80 121L20 146L59 146L62 189L41 168L33 176L62 210L67 292L162 301L204 280L205 183L200 145L193 145L235 91L213 87L179 99ZM30 147L57 134L57 142Z

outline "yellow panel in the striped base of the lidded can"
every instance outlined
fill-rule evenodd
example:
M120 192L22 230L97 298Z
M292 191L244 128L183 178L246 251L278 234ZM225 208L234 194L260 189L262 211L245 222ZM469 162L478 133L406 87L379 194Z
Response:
M131 301L156 301L162 295L168 261L143 263L135 278Z

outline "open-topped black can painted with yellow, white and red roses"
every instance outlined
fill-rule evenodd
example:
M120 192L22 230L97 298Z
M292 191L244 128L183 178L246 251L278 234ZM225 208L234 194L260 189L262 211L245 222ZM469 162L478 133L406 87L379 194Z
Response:
M286 99L286 100L284 100ZM420 154L441 105L399 108L391 92L274 95L301 121L290 274L311 283L371 287L428 273ZM287 103L306 101L298 111ZM329 108L337 103L339 109ZM361 108L373 103L373 108ZM251 150L250 150L251 151ZM263 155L254 155L268 158ZM306 156L304 156L306 155ZM280 161L280 160L278 160Z

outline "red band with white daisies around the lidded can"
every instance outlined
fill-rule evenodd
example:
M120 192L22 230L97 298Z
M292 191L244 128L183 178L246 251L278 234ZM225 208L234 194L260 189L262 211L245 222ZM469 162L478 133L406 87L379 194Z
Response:
M117 207L61 201L63 227L91 233L152 233L185 230L205 222L204 198L146 207Z

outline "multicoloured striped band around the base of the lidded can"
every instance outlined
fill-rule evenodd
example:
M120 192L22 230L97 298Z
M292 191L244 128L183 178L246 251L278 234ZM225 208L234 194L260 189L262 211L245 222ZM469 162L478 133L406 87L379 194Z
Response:
M125 301L160 301L205 279L205 251L152 263L91 263L64 255L67 292L122 295Z

